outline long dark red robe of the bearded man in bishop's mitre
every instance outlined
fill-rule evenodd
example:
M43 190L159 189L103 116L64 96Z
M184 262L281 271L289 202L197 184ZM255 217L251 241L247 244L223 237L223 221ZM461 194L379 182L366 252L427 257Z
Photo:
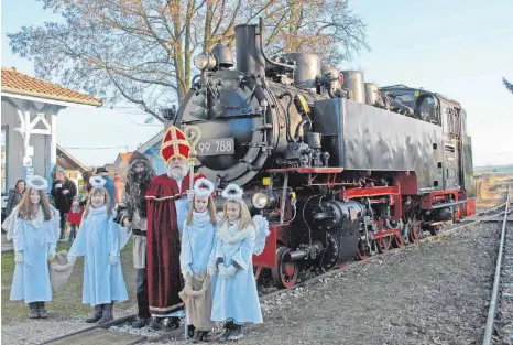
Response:
M205 176L195 174L194 180L200 177ZM146 191L146 271L151 314L171 314L184 306L178 297L184 281L179 269L181 244L175 200L186 194L189 183L187 174L182 181L179 193L176 181L162 174L152 180Z

